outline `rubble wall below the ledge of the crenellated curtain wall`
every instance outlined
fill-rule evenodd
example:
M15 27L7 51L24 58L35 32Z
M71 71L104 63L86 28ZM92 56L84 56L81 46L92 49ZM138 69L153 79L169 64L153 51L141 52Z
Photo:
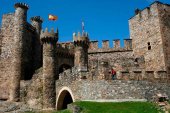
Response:
M110 52L91 52L88 54L89 69L99 68L100 61L108 62L110 68L116 71L137 70L139 66L135 65L135 59L132 51L110 51Z

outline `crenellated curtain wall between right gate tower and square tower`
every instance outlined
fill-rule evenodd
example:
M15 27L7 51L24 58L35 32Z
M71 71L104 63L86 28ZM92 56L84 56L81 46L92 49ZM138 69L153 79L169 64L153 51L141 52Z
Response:
M134 62L131 39L124 40L124 47L120 46L120 40L113 40L113 48L109 46L109 40L103 40L102 48L98 47L98 41L91 41L88 57L89 69L98 68L100 61L109 62L109 67L114 67L116 71L138 68Z

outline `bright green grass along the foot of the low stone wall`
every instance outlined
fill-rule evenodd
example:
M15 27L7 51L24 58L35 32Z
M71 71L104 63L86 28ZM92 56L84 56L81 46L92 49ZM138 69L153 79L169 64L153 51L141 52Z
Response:
M149 102L75 102L82 108L81 113L163 113ZM33 112L26 112L33 113ZM69 110L39 113L71 113Z

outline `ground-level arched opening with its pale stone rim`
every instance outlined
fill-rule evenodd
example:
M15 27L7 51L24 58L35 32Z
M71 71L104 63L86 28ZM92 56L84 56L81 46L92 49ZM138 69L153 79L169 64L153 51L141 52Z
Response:
M74 102L72 91L68 87L63 87L57 96L57 110L66 109L67 105Z

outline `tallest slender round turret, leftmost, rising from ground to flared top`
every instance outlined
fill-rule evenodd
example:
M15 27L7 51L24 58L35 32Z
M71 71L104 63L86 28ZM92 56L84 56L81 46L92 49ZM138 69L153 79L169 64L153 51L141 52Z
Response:
M20 79L22 75L22 64L23 64L23 40L25 33L25 25L27 19L28 5L24 3L15 4L15 17L14 17L14 42L15 47L13 51L13 62L12 62L12 75L11 75L11 87L9 100L19 101L20 97Z

